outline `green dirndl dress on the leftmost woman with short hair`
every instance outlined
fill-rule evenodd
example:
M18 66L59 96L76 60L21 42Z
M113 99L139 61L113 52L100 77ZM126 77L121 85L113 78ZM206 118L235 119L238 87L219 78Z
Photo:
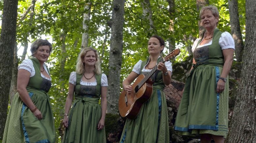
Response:
M16 93L7 116L3 143L55 142L54 119L47 93L50 90L51 81L41 77L38 59L32 58L31 60L35 75L30 77L26 89L43 118L38 120Z

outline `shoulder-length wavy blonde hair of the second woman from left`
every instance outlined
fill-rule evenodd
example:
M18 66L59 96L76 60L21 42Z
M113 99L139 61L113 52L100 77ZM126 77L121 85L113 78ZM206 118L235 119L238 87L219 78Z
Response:
M91 47L86 47L80 52L80 54L77 58L77 62L76 62L76 73L83 74L85 72L84 71L85 64L83 63L83 59L86 55L86 52L88 52L88 51L94 51L95 56L96 56L96 63L94 65L94 72L95 72L95 74L100 74L101 73L101 68L100 68L99 54L95 49L93 49Z

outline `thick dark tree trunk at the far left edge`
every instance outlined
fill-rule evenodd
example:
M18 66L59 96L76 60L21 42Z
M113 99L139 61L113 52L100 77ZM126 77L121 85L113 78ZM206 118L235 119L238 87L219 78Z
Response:
M4 0L0 39L0 140L2 140L12 80L18 0ZM11 66L10 66L11 65Z

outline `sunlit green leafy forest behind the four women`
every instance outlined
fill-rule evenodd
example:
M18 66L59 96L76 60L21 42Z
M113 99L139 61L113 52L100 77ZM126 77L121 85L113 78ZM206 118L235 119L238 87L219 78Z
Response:
M240 85L237 84L237 89L249 91L250 96L242 97L245 100L236 101L236 104L239 105L240 102L247 101L248 104L255 102L255 72L253 72L255 64L247 63L247 60L255 56L244 56L245 53L255 53L255 46L249 41L246 42L247 31L250 32L250 35L255 35L256 18L248 14L256 12L253 7L255 0L0 0L1 20L5 11L4 6L7 3L16 7L16 9L13 8L14 12L15 10L17 12L16 31L14 32L16 33L16 42L13 47L9 47L9 49L13 49L11 51L13 53L7 50L7 54L0 53L1 62L4 61L3 53L9 54L13 58L9 60L13 61L13 66L9 65L12 68L11 73L10 71L8 73L12 82L5 83L4 76L6 74L3 74L4 69L0 69L1 84L8 88L8 90L2 90L8 91L8 94L1 91L0 96L1 137L6 113L8 113L8 108L16 92L17 66L25 58L31 57L28 47L35 39L46 37L53 44L53 51L47 61L52 78L49 94L54 113L57 142L60 142L58 128L63 119L69 74L75 71L76 60L82 48L93 47L99 52L102 72L108 76L109 82L107 112L118 114L117 103L122 90L121 83L131 72L135 63L148 56L148 38L156 34L165 39L164 55L177 48L181 50L176 59L172 60L173 64L186 61L192 55L193 41L204 31L200 26L199 10L202 6L209 4L218 7L220 31L230 32L235 40L234 61L246 65L244 67L251 70L251 72L247 71L246 75L248 76L244 78L247 80L252 77L248 82L248 84L252 82L251 85L247 87L243 84L243 80L240 81ZM16 6L15 3L17 3ZM246 24L250 24L251 29L245 30ZM3 23L0 30L1 40L3 40ZM248 40L253 40L252 38L253 36ZM246 49L246 46L244 48L246 43L248 50L243 51ZM17 51L21 50L23 50L22 54L17 54ZM241 70L242 74L246 72L244 68L238 70ZM184 82L185 79L179 77L175 80ZM241 92L245 96L248 93L242 90ZM244 103L245 105L247 104ZM255 103L250 107L250 111L255 111ZM240 106L237 111L243 108ZM252 120L245 118L243 117L241 120L248 122L244 125L244 127L248 127L248 130L247 128L246 130L240 129L244 131L241 138L245 138L245 134L248 134L250 136L248 141L255 141L255 136L250 135L253 133L255 135L255 113L251 116ZM234 119L234 125L242 121ZM230 136L236 136L235 129L236 127ZM239 137L236 138L241 140Z

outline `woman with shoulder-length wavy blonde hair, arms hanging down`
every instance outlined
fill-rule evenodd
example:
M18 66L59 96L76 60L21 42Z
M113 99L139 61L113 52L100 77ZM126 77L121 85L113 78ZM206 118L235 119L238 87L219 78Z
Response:
M107 76L101 73L98 52L90 47L83 49L77 60L76 72L71 72L69 77L63 120L66 130L62 142L106 142L107 87Z

